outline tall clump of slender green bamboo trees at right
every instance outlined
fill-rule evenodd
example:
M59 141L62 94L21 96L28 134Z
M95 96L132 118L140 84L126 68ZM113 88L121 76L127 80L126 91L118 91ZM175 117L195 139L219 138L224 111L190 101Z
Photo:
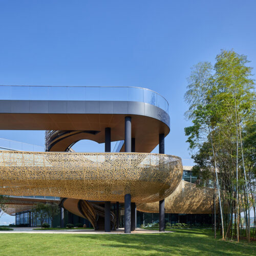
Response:
M215 170L215 178L212 179L218 189L223 238L224 226L226 237L230 236L230 230L231 238L233 236L231 227L234 214L239 240L239 211L242 209L245 211L249 241L248 195L249 189L250 195L255 194L252 191L255 176L247 138L251 137L253 131L248 126L255 124L255 96L251 68L246 66L247 63L246 56L233 50L222 50L216 57L214 68L209 62L200 62L192 69L185 94L189 105L185 115L192 125L185 128L185 134L190 150L195 152L194 170L200 173L204 181L208 180L208 184L212 169Z

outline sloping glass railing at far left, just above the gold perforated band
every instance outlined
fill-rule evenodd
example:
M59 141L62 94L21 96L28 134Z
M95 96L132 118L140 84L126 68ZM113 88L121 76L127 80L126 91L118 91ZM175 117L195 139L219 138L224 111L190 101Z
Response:
M0 151L1 150L45 152L45 147L0 138Z

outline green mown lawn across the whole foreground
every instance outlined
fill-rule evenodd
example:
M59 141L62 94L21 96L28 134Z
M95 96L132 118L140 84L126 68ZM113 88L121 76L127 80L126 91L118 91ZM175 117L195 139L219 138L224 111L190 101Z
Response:
M256 255L256 243L212 238L210 229L152 234L1 233L0 255Z

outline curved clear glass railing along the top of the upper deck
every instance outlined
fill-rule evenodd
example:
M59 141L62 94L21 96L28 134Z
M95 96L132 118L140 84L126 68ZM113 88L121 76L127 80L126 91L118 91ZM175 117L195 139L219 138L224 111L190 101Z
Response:
M169 108L163 96L139 87L0 86L0 100L139 101Z

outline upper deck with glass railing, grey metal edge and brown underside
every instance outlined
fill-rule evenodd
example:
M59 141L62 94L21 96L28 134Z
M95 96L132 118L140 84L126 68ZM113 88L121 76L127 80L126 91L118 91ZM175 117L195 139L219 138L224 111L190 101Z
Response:
M0 130L90 131L77 140L124 139L124 117L132 117L137 152L151 152L169 133L168 102L137 87L0 86Z

